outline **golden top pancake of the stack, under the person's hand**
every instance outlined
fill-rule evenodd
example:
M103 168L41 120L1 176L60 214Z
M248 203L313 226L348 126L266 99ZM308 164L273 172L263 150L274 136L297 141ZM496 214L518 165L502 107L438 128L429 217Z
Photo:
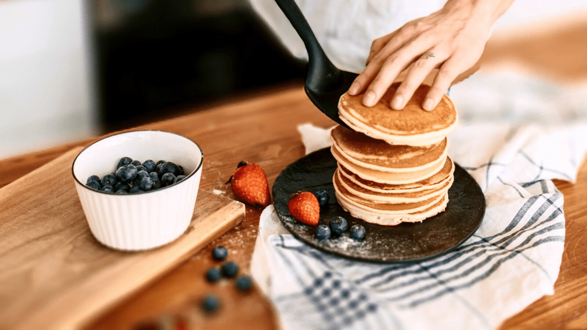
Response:
M403 110L392 110L389 102L399 83L394 83L375 106L362 104L363 94L340 96L340 119L357 132L389 144L428 146L453 132L458 122L453 102L443 95L432 111L421 108L430 86L420 85Z

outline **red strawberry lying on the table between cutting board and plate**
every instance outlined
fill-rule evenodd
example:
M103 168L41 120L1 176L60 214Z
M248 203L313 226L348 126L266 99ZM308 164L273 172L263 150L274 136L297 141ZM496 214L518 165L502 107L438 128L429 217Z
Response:
M241 161L228 182L230 182L232 193L242 203L257 207L266 207L271 204L267 176L261 166Z

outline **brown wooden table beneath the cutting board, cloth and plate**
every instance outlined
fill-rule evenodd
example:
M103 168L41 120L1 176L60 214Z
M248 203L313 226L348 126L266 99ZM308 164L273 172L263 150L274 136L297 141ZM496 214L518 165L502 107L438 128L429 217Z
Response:
M571 41L578 40L579 49L587 50L582 42L582 36L587 34L587 24L573 31L563 33L570 33ZM551 39L554 44L560 42L560 38ZM542 39L537 40L543 42ZM502 49L502 52L496 52L496 49ZM500 41L495 45L490 42L485 62L498 62L500 56L507 57L507 51L517 52L519 49L519 42L511 43L509 47L507 42ZM522 50L519 52L523 53ZM556 51L534 55L534 61L544 62L541 62L540 56L556 58ZM576 80L578 75L583 79L587 77L587 67L580 59L575 59L578 64L582 63L579 70L569 70L572 72L571 80ZM562 67L567 66L568 60ZM564 70L557 71L556 68L555 72L562 72L562 76L565 74ZM303 156L303 145L296 126L305 122L322 127L332 125L332 121L318 112L308 100L302 86L295 86L138 128L176 132L200 144L205 155L201 188L220 190L225 196L232 197L225 182L234 173L239 161L259 164L266 171L271 186L287 164ZM0 160L0 187L55 159L71 147L86 145L93 140L96 139ZM555 294L534 302L508 319L501 329L587 328L587 285L584 285L587 283L587 200L584 198L587 194L587 166L583 164L581 167L577 183L556 181L556 186L565 198L566 240ZM87 329L132 329L137 322L156 319L161 315L184 315L197 329L276 329L272 307L257 289L241 294L232 287L232 282L212 285L204 279L204 272L215 264L210 257L211 248L218 244L227 247L231 251L229 258L237 261L245 272L248 271L260 213L256 208L247 207L247 216L241 225L98 319L89 320ZM198 299L208 292L219 295L223 303L214 316L198 311Z

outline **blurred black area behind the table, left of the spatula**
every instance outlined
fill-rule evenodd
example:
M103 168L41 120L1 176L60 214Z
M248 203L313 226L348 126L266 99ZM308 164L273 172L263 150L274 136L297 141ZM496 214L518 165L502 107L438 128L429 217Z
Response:
M306 75L247 0L97 0L92 11L104 132Z

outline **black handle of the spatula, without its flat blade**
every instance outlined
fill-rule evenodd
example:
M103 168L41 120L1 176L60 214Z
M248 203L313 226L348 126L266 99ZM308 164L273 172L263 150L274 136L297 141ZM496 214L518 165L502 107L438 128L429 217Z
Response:
M312 28L303 16L294 0L275 0L279 8L292 23L308 50L308 77L306 88L315 92L328 92L340 83L340 70L336 68L324 53Z

